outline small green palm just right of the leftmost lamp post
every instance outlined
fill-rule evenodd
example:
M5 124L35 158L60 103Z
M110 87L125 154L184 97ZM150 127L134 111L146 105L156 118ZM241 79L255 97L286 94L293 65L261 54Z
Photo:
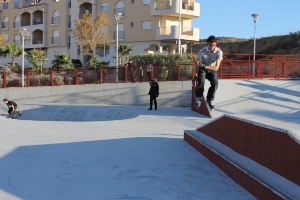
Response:
M43 63L48 62L46 54L41 49L32 49L26 54L28 62L33 65L35 69L40 68L41 74L43 73Z

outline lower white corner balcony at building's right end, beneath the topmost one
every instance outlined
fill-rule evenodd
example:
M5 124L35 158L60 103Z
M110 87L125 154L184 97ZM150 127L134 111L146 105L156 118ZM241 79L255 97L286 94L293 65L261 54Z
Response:
M178 40L179 26L157 27L156 40ZM199 28L185 28L181 30L181 40L199 41Z

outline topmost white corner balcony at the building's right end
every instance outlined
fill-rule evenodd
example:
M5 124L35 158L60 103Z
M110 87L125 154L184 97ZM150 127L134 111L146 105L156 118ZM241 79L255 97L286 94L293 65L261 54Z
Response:
M197 2L183 2L181 8L179 7L180 0L171 0L165 2L151 3L151 15L153 16L174 16L178 17L179 10L181 10L181 17L197 18L200 16L200 3Z

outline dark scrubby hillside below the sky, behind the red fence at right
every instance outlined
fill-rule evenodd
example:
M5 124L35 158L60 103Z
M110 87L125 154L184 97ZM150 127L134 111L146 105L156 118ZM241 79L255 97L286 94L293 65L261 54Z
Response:
M218 38L217 46L224 53L253 54L253 39ZM192 51L198 52L206 46L206 40L192 45ZM188 47L190 53L191 48ZM300 32L290 35L271 36L256 39L256 54L300 54ZM297 55L298 57L298 55Z

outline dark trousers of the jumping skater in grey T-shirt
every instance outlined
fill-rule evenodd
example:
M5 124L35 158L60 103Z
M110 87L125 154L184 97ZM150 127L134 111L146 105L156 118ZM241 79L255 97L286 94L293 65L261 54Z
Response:
M217 72L211 70L198 70L198 85L196 86L196 97L202 97L204 92L205 79L210 82L210 88L208 89L206 100L213 101L218 88L218 75Z

